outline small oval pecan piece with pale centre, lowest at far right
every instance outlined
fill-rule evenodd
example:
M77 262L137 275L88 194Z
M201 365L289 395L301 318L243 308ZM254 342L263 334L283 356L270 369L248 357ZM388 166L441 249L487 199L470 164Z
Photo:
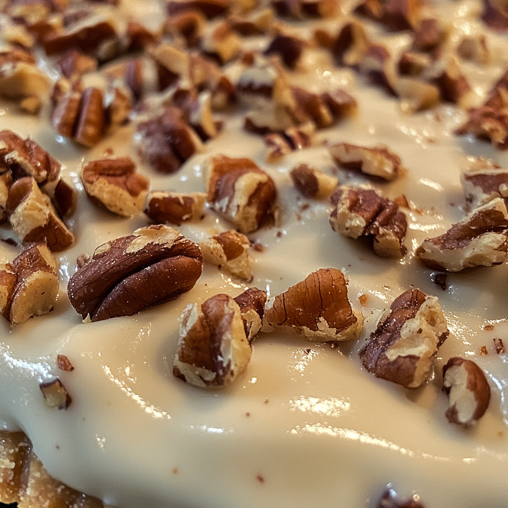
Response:
M483 370L471 360L450 358L443 366L444 393L450 396L446 417L469 426L482 418L490 402L490 386Z

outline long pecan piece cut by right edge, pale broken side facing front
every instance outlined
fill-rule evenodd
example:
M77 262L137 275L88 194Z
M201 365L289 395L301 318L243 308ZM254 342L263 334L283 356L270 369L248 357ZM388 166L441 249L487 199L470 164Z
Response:
M508 212L501 198L470 212L446 233L427 238L415 252L433 270L460 272L508 258Z

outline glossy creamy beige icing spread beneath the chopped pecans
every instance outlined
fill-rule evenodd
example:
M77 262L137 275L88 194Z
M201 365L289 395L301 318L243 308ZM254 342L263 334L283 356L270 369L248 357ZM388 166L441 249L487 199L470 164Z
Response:
M462 14L457 26L468 23L470 11L461 6L474 4L443 7L447 15ZM503 44L498 36L492 41ZM315 90L342 86L359 102L356 119L320 131L319 139L388 144L407 173L375 184L390 198L404 193L424 213L407 214L408 253L402 260L376 257L367 242L334 233L329 203L299 197L288 174L306 162L341 183L369 180L336 170L325 147L266 165L262 138L244 133L240 116L227 119L206 152L175 175L140 164L151 189L202 192L201 168L210 154L254 158L277 184L282 216L279 227L250 235L265 246L264 252L252 251L250 285L274 296L315 269L339 268L350 279L352 304L367 318L362 338L338 349L292 334L260 334L246 373L225 390L196 389L171 374L185 305L218 292L236 296L245 288L215 267L205 267L196 287L178 300L135 316L83 324L69 304L66 285L77 256L91 255L99 244L148 223L143 214L123 219L94 207L77 177L83 161L109 147L116 155L136 157L133 127L85 151L56 136L44 115L19 116L13 105L1 105L0 129L33 136L65 165L63 174L79 191L70 221L77 243L59 256L61 289L54 311L15 327L0 322L0 425L24 430L56 478L120 508L372 507L389 482L402 495L418 492L426 508L506 506L508 368L493 338L508 346L508 267L449 274L449 288L442 291L414 252L425 237L443 233L465 215L459 174L467 155L493 157L507 167L508 154L453 136L464 119L454 106L402 115L397 100L366 86L352 71L334 69L321 53L312 55L314 63L295 82ZM502 61L489 69L466 66L479 98L503 66ZM204 220L180 231L199 241L230 227L208 210ZM12 232L4 225L0 236ZM12 261L18 252L0 242L0 260ZM358 358L380 313L411 287L439 298L451 331L429 383L418 390L376 379ZM368 296L365 307L358 301L362 294ZM494 330L482 330L485 324ZM483 345L487 356L480 355ZM58 370L58 354L75 370ZM487 414L471 430L453 427L444 417L448 399L440 392L440 371L454 355L477 362L492 389ZM39 389L57 375L73 397L67 411L46 407Z

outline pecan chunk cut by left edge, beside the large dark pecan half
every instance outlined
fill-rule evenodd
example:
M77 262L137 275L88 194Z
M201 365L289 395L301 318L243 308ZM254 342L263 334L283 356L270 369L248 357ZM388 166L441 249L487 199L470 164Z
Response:
M58 296L58 265L45 244L26 247L0 265L0 312L12 324L49 312Z

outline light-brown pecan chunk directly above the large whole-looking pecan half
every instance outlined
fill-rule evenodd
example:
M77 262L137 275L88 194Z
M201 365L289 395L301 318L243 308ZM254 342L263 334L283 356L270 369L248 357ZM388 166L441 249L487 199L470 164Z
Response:
M81 181L86 194L113 213L130 217L143 209L148 178L136 173L131 157L91 161L84 165Z

